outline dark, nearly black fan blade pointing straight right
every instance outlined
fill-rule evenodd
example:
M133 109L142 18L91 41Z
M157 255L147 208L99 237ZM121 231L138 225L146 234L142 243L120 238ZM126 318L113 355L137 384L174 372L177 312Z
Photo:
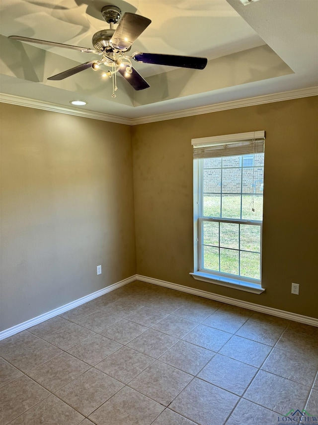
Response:
M164 55L159 53L132 54L132 58L140 63L154 63L157 65L178 66L181 68L204 69L208 59L195 56Z

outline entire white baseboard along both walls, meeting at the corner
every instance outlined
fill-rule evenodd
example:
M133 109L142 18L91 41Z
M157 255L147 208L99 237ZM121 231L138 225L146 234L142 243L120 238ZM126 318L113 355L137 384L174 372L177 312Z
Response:
M282 317L288 320L294 320L295 322L306 323L311 326L318 327L318 319L309 316L303 316L301 314L291 313L289 311L279 310L277 308L266 307L260 304L254 304L252 302L242 301L240 299L231 298L229 296L219 295L217 293L208 292L201 289L191 288L190 286L178 285L176 283L161 281L160 279L149 278L142 275L133 275L123 281L113 283L112 285L106 286L96 292L92 292L82 298L76 299L75 301L69 302L68 304L62 305L61 307L55 308L54 310L48 311L47 313L41 314L40 316L34 317L33 319L27 320L26 322L20 323L11 328L5 329L0 332L0 340L12 336L22 330L28 329L39 323L45 322L45 320L51 319L52 317L58 316L65 311L71 310L72 308L78 307L85 302L88 302L98 296L104 295L107 292L111 292L114 289L124 286L127 283L134 281L142 281L146 283L153 283L155 285L164 286L170 289L175 289L181 292L192 293L193 295L202 296L204 298L214 299L216 301L225 302L226 304L237 305L238 307L247 308L253 311L259 311L265 314L271 314L272 316Z

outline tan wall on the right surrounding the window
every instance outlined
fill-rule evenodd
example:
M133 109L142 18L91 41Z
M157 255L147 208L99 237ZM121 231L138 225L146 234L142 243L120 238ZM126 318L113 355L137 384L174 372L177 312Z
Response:
M318 317L317 97L136 126L137 273ZM195 281L191 138L265 130L260 295ZM300 295L291 283L300 283Z

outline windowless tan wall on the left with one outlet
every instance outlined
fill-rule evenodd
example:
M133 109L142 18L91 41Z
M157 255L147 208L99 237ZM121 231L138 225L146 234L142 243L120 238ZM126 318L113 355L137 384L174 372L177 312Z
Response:
M136 273L130 132L1 104L0 330Z

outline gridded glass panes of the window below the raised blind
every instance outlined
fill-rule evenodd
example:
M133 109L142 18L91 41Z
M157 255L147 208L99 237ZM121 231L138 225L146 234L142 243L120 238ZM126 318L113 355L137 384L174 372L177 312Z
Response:
M198 270L260 282L264 153L197 160Z

